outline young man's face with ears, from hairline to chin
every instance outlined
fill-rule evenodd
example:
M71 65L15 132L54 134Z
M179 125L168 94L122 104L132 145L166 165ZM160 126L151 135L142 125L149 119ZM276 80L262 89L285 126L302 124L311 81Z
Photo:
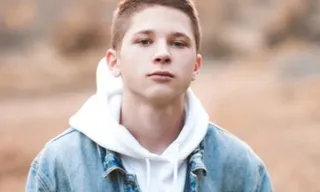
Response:
M154 102L183 94L201 66L191 21L183 12L152 6L134 14L121 48L109 50L109 67L125 91Z

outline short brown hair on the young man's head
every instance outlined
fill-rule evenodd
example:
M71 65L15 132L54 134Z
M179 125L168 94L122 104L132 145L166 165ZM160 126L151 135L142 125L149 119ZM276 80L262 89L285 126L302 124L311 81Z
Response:
M111 26L111 46L113 49L119 48L123 36L129 26L130 18L133 14L141 11L142 9L153 6L161 5L174 8L185 13L191 21L194 38L196 42L196 49L199 51L201 28L199 17L192 0L122 0L119 2L117 9L114 12L112 26Z

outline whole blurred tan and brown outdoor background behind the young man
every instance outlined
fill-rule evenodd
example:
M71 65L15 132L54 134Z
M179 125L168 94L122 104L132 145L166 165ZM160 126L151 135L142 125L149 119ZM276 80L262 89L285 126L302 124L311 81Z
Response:
M95 92L113 0L0 0L0 191ZM204 68L192 87L245 140L275 191L320 191L320 0L197 0Z

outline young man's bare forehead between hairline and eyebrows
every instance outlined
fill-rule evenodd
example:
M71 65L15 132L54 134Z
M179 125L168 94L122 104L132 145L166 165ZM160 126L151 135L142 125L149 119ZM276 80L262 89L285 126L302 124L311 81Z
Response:
M127 31L128 35L144 30L154 31L156 34L178 32L193 39L189 17L180 10L164 6L144 8L131 18L130 27Z

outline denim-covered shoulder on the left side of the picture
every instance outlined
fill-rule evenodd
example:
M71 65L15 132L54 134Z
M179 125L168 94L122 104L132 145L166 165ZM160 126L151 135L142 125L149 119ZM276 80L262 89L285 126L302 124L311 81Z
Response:
M28 191L70 191L73 180L101 163L98 146L84 134L69 128L51 139L31 163ZM100 168L100 167L98 167Z

